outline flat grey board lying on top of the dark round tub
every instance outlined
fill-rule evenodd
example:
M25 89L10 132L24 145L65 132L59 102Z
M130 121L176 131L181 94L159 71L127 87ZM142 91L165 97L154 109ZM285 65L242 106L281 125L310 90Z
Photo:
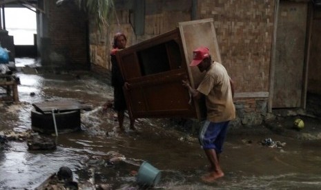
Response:
M52 112L52 109L63 111L63 112L79 110L79 109L84 109L84 110L91 109L90 106L83 105L77 101L66 101L66 100L33 103L32 106L35 107L37 112L41 112L41 113Z

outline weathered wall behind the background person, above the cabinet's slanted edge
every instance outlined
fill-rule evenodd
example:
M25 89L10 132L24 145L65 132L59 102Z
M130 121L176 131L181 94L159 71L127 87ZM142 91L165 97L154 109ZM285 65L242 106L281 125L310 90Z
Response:
M90 25L90 61L95 65L111 69L109 52L116 32L124 32L130 46L174 30L180 21L191 20L191 0L146 0L144 35L135 35L133 10L126 6L130 1L124 1L124 6L115 2L117 10L106 31L97 32L95 25Z

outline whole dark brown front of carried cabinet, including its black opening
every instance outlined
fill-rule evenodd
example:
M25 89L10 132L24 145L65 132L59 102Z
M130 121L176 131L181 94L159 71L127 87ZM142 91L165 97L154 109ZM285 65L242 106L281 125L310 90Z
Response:
M117 52L129 88L124 89L133 118L195 118L195 105L182 80L188 78L178 28Z

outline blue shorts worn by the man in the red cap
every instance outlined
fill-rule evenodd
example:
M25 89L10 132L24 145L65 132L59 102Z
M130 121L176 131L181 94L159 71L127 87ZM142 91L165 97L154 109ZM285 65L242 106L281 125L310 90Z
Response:
M228 121L213 123L206 120L203 127L200 129L199 140L202 149L215 149L221 153L223 143L228 129Z

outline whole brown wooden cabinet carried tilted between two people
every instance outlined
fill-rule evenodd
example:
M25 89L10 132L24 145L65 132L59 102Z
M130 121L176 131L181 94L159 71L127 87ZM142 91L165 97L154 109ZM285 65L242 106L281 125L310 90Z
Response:
M204 118L204 102L193 101L182 85L189 80L197 87L202 80L204 73L189 66L201 45L220 61L213 19L179 23L175 30L117 52L121 74L130 84L124 92L133 118Z

